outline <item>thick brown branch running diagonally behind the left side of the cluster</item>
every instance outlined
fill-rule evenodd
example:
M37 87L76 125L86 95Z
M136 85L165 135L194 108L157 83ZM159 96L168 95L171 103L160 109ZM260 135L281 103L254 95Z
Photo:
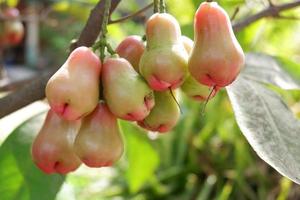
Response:
M121 0L112 0L111 13ZM89 19L82 30L78 41L72 43L70 50L78 46L91 46L100 33L105 1L100 1L91 11ZM48 79L57 69L42 74L38 79L0 99L0 118L45 97L45 86Z

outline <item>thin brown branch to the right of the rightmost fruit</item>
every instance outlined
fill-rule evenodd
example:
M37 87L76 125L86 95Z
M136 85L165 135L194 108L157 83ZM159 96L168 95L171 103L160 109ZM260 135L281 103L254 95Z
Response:
M259 13L252 15L246 19L241 20L240 22L237 22L233 25L233 30L235 32L241 31L243 28L249 26L250 24L265 18L265 17L277 17L281 12L290 10L293 8L296 8L300 6L300 0L290 2L290 3L285 3L281 5L270 5L268 8L265 10L260 11Z

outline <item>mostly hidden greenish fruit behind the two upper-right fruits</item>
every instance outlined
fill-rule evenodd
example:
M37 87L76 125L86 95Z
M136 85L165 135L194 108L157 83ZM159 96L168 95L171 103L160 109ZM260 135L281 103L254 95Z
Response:
M194 42L190 38L186 36L182 36L181 40L183 42L183 46L188 54L191 54L193 50ZM219 88L215 87L210 94L213 88L207 85L203 85L195 80L191 75L188 75L186 80L181 86L181 90L190 98L196 101L206 101L213 98L218 92Z

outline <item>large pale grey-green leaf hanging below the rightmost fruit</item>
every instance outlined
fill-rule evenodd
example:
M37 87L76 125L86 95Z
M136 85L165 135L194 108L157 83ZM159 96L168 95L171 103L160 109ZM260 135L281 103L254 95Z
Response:
M300 121L276 93L243 75L227 92L237 123L256 153L300 184Z

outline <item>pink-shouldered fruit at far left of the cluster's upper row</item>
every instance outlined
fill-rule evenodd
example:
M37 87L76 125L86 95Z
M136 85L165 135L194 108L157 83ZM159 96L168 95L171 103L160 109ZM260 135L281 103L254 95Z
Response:
M75 49L47 83L51 109L70 121L92 112L99 101L100 71L96 54L87 47Z

